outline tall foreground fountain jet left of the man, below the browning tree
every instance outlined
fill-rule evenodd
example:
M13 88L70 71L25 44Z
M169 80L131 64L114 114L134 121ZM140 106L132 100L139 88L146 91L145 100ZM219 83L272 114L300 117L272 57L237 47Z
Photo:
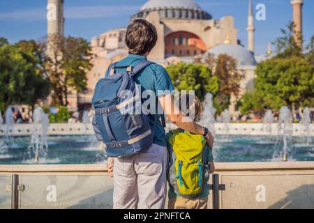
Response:
M45 156L48 149L47 131L49 127L49 116L43 112L41 107L37 107L33 112L33 129L31 131L30 153L35 154L35 162L39 161L39 156Z

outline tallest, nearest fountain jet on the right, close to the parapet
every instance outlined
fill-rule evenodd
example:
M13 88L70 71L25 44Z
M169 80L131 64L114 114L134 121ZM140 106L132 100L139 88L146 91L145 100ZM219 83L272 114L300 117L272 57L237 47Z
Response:
M288 138L292 135L292 114L290 109L286 106L281 107L279 110L279 118L278 118L278 134L282 132L283 137L283 161L287 161L287 141Z

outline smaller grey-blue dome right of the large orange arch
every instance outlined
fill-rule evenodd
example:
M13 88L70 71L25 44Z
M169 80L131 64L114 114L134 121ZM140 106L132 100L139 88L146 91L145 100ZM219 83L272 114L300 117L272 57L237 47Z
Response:
M237 66L256 66L256 61L253 54L248 51L248 49L242 47L241 45L235 44L220 44L209 49L205 55L214 54L218 56L219 54L227 54L232 56L237 60Z

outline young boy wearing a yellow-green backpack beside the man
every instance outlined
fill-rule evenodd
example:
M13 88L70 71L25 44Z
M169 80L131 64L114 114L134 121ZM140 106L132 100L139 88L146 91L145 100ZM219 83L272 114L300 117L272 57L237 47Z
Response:
M193 102L190 102L190 100L192 100L191 98L193 98ZM180 98L180 102L181 102L181 105L182 103L186 104L186 109L189 111L189 114L193 114L194 121L200 120L200 114L202 112L202 104L195 95L182 95ZM202 137L201 135L191 134L190 132L183 131L180 129L172 130L168 132L166 134L166 139L168 143L168 152L169 152L170 157L174 157L174 153L176 155L176 158L174 157L170 161L172 162L172 167L170 167L170 170L167 176L167 180L170 187L169 192L168 192L168 197L169 197L168 208L169 209L207 209L207 201L208 201L208 195L209 195L209 188L207 185L207 180L209 178L208 171L210 174L214 173L215 171L215 165L213 162L214 159L211 153L211 148L209 148L209 146L206 143L204 142L202 143L202 140L204 140L204 137ZM176 146L177 146L177 149L174 148ZM203 147L203 150L202 150L202 147ZM191 150L194 150L194 151L192 152ZM184 171L186 171L187 174L193 175L193 171L190 170L191 168L193 168L193 164L191 164L191 162L189 161L195 160L195 154L200 155L200 157L203 156L202 157L203 171L207 171L207 177L205 177L205 174L202 173L202 176L204 177L204 179L201 180L202 183L200 183L199 185L197 185L197 182L188 182L188 180L197 181L197 177L195 178L195 176L197 175L199 175L200 178L202 177L200 176L201 175L201 171L199 169L200 167L197 167L197 164L195 164L195 171L194 171L195 176L184 175ZM190 160L187 159L188 155L192 156ZM203 160L205 156L206 156L206 159ZM180 164L177 164L178 160L180 158L182 159L182 157L183 159L188 160L185 162L187 166L186 169L184 169L184 161L183 162L179 161L179 163L181 162L181 167L179 167ZM176 164L177 164L177 168L175 168ZM179 171L178 171L178 168L179 168ZM182 173L178 173L178 172L182 172ZM193 194L188 194L188 192L193 188L193 185L195 185L194 192L198 190L198 192L196 193L196 196L193 196ZM186 188L182 190L182 188L180 187L184 187L184 186L186 186ZM177 190L175 190L174 187L177 187ZM199 188L197 189L197 187ZM187 195L187 197L191 195L190 198L180 196L180 189L181 189L181 192L184 192Z

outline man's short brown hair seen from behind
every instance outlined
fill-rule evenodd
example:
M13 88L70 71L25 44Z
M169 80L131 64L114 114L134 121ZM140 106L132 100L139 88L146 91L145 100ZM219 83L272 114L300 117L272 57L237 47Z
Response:
M157 42L156 27L143 19L135 19L126 29L126 45L130 54L142 55L150 52Z

